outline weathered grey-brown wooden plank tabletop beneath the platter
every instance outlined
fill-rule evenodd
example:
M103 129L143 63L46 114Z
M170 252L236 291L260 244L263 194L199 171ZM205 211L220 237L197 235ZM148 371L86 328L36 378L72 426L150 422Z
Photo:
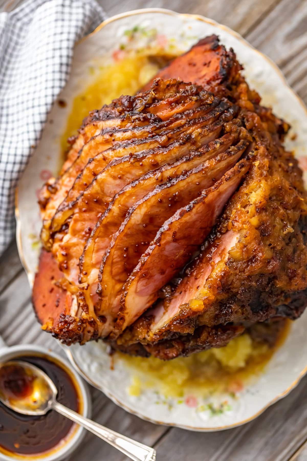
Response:
M109 16L144 7L197 13L230 26L272 58L307 103L307 0L99 0ZM30 289L12 243L0 259L0 334L8 345L41 344L61 352L40 330ZM61 352L62 353L62 352ZM307 358L306 358L307 359ZM95 389L93 419L152 445L158 461L307 461L307 377L289 396L250 423L214 433L156 426L126 413ZM71 461L127 458L90 434Z

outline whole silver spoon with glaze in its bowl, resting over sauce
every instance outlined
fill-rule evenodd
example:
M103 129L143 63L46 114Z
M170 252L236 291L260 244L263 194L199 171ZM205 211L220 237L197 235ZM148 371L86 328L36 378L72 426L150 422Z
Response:
M6 373L9 375L12 372L12 366L15 370L18 367L17 372L21 373L20 376L23 379L17 382L16 385L12 383L12 386L5 386L5 379L1 379L1 376L6 376ZM23 391L20 389L21 384L24 384L25 389ZM34 416L46 414L51 409L55 410L80 426L85 427L88 431L93 432L93 434L110 443L110 445L134 461L156 460L156 450L100 426L100 424L94 423L75 411L66 408L57 402L57 394L58 390L52 380L37 366L23 361L0 363L0 401L7 407L17 413Z

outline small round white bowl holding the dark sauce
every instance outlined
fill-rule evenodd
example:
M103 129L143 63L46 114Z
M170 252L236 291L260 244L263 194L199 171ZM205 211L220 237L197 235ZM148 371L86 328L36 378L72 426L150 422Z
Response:
M64 360L60 355L55 354L54 352L50 352L48 349L41 346L22 344L7 347L0 337L0 361L11 360L17 357L22 357L23 355L43 355L46 356L46 358L50 357L51 359L59 362L64 369L66 368L69 374L74 378L74 384L81 402L81 414L87 418L91 417L92 404L87 385L75 372L74 368L68 361ZM52 450L46 451L46 454L42 453L36 455L15 455L12 453L10 455L5 455L4 453L0 452L0 461L61 461L67 456L71 455L73 451L75 451L75 449L78 447L78 445L80 445L82 439L84 438L85 433L86 430L83 427L74 425L72 426L70 433L66 436L66 440L64 439L61 441L58 446L54 447Z

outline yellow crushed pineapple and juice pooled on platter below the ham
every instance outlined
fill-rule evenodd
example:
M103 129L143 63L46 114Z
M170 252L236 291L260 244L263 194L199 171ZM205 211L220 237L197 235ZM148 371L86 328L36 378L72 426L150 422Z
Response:
M132 396L139 396L149 388L158 390L165 397L233 393L260 374L274 350L283 343L289 328L290 324L287 324L273 348L268 348L266 343L254 342L244 333L223 348L171 361L116 353L115 366L123 365L132 371L132 384L128 388Z

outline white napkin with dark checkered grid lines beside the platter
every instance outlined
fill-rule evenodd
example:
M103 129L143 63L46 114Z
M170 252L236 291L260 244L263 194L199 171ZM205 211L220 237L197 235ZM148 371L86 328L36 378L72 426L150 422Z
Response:
M69 77L75 42L104 18L94 0L28 0L0 13L0 254L15 229L18 178Z

